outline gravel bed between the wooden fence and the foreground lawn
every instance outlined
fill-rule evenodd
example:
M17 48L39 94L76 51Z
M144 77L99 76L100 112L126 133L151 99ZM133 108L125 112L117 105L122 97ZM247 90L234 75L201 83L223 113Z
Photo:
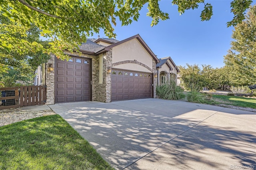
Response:
M32 119L41 116L56 115L52 110L44 111L22 111L20 109L4 109L0 111L0 127L4 125L9 125L11 123L16 123L24 121L27 119Z

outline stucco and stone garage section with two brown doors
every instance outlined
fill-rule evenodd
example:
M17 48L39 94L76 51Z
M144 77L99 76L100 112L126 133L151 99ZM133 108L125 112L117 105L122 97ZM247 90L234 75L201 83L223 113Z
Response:
M51 55L43 66L46 104L156 97L156 63L160 61L140 35L122 41L88 39L80 52L65 51L71 57L68 61Z

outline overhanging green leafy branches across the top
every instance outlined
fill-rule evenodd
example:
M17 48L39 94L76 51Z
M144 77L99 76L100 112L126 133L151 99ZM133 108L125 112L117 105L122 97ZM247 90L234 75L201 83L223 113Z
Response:
M172 4L178 6L180 14L185 10L198 8L200 3L204 4L201 20L210 20L213 14L212 5L205 4L204 0L172 1ZM230 7L234 18L228 22L228 26L241 22L244 11L251 3L252 0L232 1ZM116 18L122 25L131 24L133 20L138 20L139 11L145 4L148 6L147 16L152 18L151 26L158 24L159 20L169 18L167 13L160 10L158 0L0 0L0 11L16 23L18 32L23 36L24 30L30 24L37 26L42 30L42 36L51 38L51 46L44 52L52 52L58 58L64 59L67 58L63 53L64 49L78 51L78 45L86 42L86 38L93 32L98 33L103 29L106 36L115 37L113 25L116 25ZM8 28L8 32L12 33L14 29ZM15 44L11 34L0 34L0 47L8 51L27 45L26 42ZM34 51L40 51L41 46L37 45L33 44Z

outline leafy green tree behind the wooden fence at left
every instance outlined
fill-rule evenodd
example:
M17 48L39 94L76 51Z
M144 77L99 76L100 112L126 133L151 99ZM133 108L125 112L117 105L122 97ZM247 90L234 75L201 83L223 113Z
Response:
M42 52L48 48L48 42L40 40L41 30L34 24L29 27L21 26L2 13L0 23L1 38L8 38L9 42L16 41L11 45L12 48L0 47L0 86L10 87L17 81L31 83L38 65L50 58L48 54Z

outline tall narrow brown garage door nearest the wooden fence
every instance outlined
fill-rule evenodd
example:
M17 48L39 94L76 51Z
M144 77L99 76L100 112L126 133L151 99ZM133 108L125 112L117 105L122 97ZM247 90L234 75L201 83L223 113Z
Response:
M90 101L90 59L57 59L55 77L55 103Z

